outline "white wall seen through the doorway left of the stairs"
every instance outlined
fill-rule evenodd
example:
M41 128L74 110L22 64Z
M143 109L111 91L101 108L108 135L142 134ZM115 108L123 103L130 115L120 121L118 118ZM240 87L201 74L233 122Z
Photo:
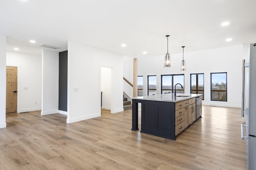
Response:
M102 109L111 109L111 68L101 67Z

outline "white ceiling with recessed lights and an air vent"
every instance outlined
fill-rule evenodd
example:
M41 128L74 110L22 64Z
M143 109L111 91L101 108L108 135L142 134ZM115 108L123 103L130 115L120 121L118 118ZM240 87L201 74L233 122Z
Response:
M0 0L0 34L9 51L40 54L42 43L64 51L75 41L151 57L166 53L165 35L171 54L256 43L255 9L256 0Z

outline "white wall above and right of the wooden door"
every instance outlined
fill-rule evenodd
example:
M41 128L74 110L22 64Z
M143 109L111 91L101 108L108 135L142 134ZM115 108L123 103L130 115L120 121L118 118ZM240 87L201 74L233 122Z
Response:
M6 51L6 66L18 67L17 112L41 110L42 56Z

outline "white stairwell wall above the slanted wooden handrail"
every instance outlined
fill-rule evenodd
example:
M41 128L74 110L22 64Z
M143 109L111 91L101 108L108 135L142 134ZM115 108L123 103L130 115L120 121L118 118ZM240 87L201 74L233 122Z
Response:
M133 83L133 59L130 57L124 56L124 77Z

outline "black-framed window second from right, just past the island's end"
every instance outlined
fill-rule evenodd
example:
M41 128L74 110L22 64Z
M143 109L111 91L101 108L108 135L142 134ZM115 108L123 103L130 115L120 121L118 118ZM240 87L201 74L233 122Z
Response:
M204 100L204 74L190 74L190 93L202 94Z

